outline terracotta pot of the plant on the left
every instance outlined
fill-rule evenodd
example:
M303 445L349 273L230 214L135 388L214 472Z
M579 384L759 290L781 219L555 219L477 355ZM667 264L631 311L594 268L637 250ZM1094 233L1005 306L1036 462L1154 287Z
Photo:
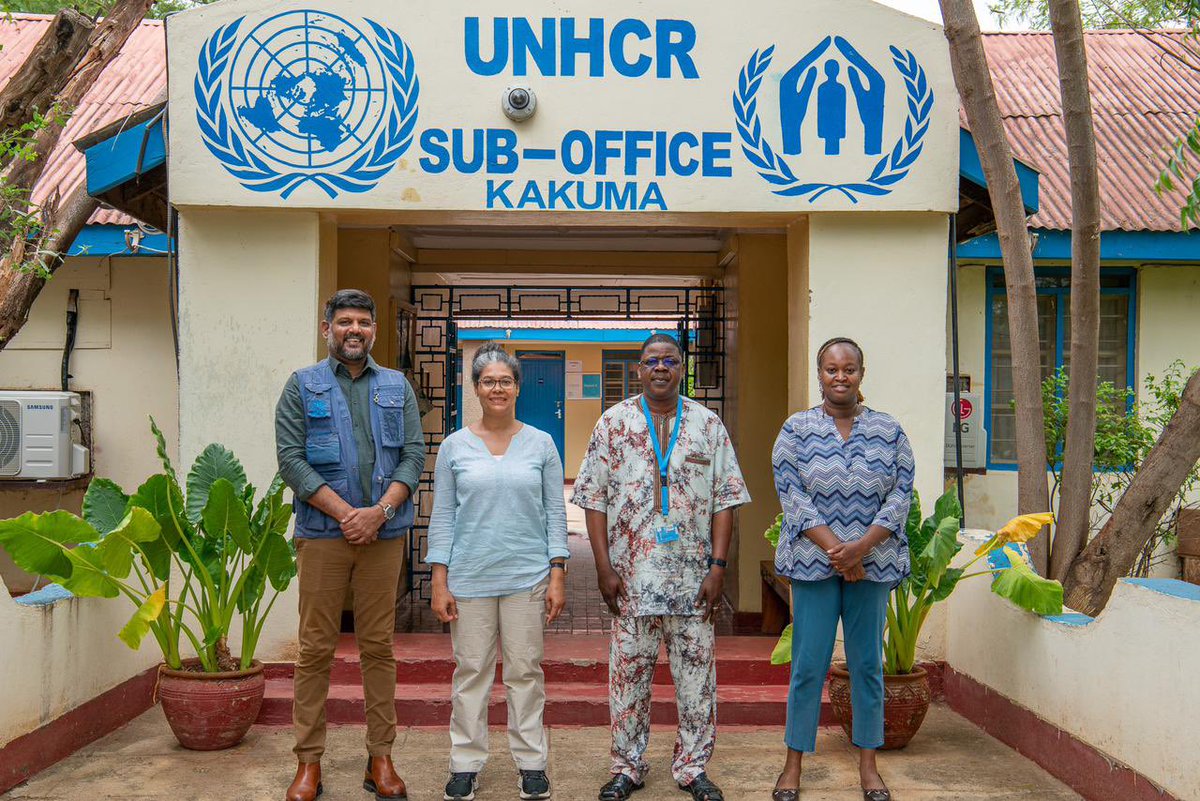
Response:
M185 660L184 667L199 664ZM248 670L199 673L158 666L158 700L179 745L218 751L241 742L263 705L263 664Z

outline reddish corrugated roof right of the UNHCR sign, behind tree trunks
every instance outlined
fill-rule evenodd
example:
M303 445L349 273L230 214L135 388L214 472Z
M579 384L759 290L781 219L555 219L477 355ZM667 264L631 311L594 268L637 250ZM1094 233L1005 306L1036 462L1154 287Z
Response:
M1088 72L1103 230L1178 230L1184 193L1159 197L1166 150L1200 113L1200 59L1189 67L1183 31L1088 31ZM984 48L1013 155L1042 173L1039 228L1070 228L1070 174L1048 32L985 34ZM1192 44L1195 48L1195 44Z

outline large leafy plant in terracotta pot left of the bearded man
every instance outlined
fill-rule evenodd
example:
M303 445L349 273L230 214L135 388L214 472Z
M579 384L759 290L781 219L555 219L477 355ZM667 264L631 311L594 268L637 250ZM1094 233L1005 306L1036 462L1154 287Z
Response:
M163 472L132 495L94 480L82 518L59 510L0 520L0 547L22 570L76 596L131 602L133 616L118 637L137 649L152 634L162 650L157 693L175 737L185 748L227 748L246 735L263 703L254 649L295 576L286 538L292 506L278 477L256 500L241 463L216 444L181 487L152 418L150 428ZM238 656L229 650L234 626ZM185 639L194 657L184 658Z

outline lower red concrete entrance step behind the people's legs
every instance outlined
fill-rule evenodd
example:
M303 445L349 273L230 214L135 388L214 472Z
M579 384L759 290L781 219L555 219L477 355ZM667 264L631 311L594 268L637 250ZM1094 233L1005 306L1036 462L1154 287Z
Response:
M718 686L718 719L724 725L784 725L787 711L787 687ZM362 724L366 722L362 688L335 685L329 689L325 715L330 723ZM396 716L401 725L449 725L449 683L406 683L396 687ZM650 700L650 722L677 722L674 693L670 687L655 687ZM503 685L496 685L488 700L487 721L505 725L508 707ZM546 686L547 725L607 727L608 688L596 683L558 682ZM270 680L266 697L258 715L258 723L287 725L292 723L292 682ZM821 725L835 725L828 695L822 699Z

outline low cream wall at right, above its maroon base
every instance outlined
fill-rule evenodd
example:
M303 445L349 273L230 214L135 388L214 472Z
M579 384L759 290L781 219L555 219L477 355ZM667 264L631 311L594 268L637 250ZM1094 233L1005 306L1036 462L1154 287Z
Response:
M1177 799L1200 799L1200 595L1127 582L1087 626L1018 609L978 579L950 597L949 666L1124 763Z

